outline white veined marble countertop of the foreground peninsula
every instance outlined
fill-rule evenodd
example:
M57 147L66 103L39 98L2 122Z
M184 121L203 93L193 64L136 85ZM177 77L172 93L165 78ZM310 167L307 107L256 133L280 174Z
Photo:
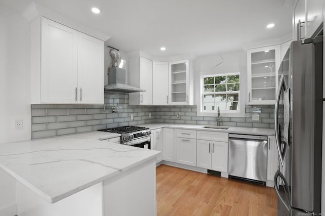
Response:
M107 134L90 132L0 144L0 167L54 203L160 153L100 141Z

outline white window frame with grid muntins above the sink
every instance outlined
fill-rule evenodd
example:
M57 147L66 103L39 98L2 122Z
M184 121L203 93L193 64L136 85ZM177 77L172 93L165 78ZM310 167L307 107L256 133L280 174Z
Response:
M239 83L239 90L238 91L233 91L233 92L229 92L229 91L225 91L225 92L207 92L207 93L204 93L204 78L206 77L217 77L217 76L232 76L232 75L239 75L239 82L235 82L235 83ZM223 74L209 74L209 75L201 75L200 77L200 104L201 104L201 113L202 114L207 114L207 113L217 113L217 109L214 109L214 110L204 110L204 95L224 95L224 94L238 94L238 109L237 110L220 110L220 112L222 113L238 113L240 114L241 113L241 109L240 109L240 106L241 106L241 94L240 94L240 88L241 88L241 75L240 75L240 72L234 72L234 73L223 73ZM213 83L214 85L216 83ZM231 83L228 83L226 82L225 83L226 85L227 84L231 84Z

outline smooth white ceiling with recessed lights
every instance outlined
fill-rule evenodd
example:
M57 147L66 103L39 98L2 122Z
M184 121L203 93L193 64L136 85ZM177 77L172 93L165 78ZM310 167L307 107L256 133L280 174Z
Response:
M32 0L0 0L21 13ZM111 36L107 45L152 56L205 56L292 31L285 0L34 0ZM102 13L93 14L98 7ZM267 29L266 25L275 23ZM166 47L165 52L159 48Z

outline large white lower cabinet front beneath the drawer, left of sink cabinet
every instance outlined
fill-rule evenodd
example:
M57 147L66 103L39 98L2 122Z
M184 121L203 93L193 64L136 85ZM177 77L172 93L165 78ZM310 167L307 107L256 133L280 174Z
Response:
M175 162L190 166L197 164L197 140L177 137L175 142Z

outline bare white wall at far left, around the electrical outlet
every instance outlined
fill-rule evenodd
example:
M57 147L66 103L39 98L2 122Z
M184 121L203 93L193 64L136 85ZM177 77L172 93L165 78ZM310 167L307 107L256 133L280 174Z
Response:
M20 14L0 5L0 29L0 143L28 140L31 137L29 24ZM23 120L21 131L14 131L14 119ZM15 180L2 169L0 191L0 215L14 215Z

